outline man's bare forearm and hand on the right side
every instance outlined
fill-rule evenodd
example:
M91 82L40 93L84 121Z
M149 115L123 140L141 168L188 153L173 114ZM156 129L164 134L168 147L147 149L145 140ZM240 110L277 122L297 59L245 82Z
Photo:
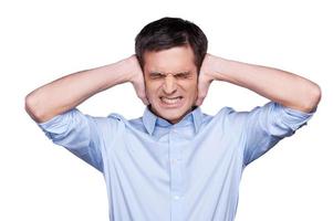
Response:
M295 74L207 54L200 70L197 105L202 103L214 80L246 87L285 107L306 113L313 110L321 98L321 90L315 83Z

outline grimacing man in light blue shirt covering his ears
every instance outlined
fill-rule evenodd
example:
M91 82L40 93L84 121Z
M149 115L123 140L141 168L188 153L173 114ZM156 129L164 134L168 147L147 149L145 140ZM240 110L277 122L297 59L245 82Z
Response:
M64 76L30 93L25 108L55 144L105 177L110 220L235 219L243 168L306 124L321 97L309 80L207 54L194 23L164 18L136 36L136 55ZM200 106L212 81L271 102L250 112ZM143 117L93 117L76 106L131 82Z

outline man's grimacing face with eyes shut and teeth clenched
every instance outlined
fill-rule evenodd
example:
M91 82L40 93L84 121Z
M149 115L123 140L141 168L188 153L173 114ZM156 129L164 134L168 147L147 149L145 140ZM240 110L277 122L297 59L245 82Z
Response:
M189 113L197 99L198 71L190 46L145 52L146 96L152 110L171 124Z

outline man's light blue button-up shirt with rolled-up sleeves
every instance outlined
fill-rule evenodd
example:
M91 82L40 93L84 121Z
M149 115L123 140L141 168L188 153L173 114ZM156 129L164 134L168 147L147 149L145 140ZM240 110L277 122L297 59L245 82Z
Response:
M148 108L132 120L74 108L39 126L103 172L112 221L232 221L244 167L312 114L273 102L216 116L198 107L171 125Z

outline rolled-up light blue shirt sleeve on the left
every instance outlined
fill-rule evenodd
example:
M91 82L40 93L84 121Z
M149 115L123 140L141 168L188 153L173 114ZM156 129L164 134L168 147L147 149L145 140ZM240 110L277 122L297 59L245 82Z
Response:
M39 124L39 127L54 144L65 147L103 171L97 119L98 117L84 115L77 108L73 108Z

